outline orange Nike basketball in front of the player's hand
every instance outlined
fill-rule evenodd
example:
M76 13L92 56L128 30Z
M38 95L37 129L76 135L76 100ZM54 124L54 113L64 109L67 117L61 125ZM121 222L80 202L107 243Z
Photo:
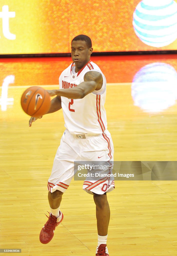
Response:
M50 95L39 86L29 87L22 94L21 106L24 112L30 116L44 115L50 109Z

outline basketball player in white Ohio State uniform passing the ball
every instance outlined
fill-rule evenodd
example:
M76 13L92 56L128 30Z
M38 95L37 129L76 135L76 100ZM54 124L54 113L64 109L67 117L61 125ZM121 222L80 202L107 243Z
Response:
M48 180L50 214L40 232L40 242L48 243L63 220L60 202L74 176L74 161L113 161L113 143L107 130L106 78L90 60L92 44L88 36L76 36L71 42L73 63L59 77L59 90L48 91L51 101L48 113L63 109L66 130L61 137L51 176ZM41 117L39 117L41 118ZM31 117L29 126L38 118ZM98 246L96 256L109 256L107 249L110 209L106 193L114 189L108 178L85 180L83 189L93 195L96 204Z

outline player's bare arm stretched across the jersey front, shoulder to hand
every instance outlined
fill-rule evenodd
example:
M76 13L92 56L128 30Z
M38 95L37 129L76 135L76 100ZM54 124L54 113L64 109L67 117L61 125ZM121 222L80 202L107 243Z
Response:
M69 99L82 99L87 94L100 90L102 84L103 77L100 72L88 71L84 75L84 82L81 82L78 86L68 89L49 90L48 93L50 96L59 95Z

